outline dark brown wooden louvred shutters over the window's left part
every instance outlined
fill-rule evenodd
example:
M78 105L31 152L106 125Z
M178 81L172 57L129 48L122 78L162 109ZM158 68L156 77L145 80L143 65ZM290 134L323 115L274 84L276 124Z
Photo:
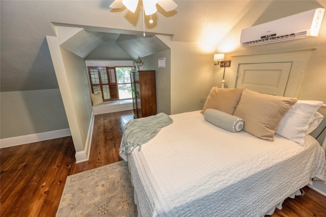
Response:
M114 67L87 67L93 94L102 92L103 101L119 100L118 83Z

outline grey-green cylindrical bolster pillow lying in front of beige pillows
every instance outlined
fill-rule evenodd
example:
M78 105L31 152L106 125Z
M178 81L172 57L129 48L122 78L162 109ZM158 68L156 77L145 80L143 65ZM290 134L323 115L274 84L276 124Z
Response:
M243 128L243 120L234 115L216 109L207 109L204 118L215 126L236 133Z

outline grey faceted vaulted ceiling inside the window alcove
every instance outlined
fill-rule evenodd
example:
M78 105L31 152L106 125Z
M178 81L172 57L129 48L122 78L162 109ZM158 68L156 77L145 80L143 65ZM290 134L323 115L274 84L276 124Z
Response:
M84 28L61 46L84 59L131 59L169 49L154 35L87 32Z

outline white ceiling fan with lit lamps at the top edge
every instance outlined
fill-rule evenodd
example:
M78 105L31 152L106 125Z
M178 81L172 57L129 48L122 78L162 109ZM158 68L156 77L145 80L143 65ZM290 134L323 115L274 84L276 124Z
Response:
M137 9L139 0L115 0L110 8L117 9L125 6L132 13ZM143 0L143 7L145 15L154 14L156 9L156 4L158 4L165 11L173 11L178 5L173 0Z

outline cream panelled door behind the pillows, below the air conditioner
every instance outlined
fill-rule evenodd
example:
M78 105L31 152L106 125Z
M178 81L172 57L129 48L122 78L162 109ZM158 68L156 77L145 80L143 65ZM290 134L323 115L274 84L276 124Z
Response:
M239 64L236 88L284 96L292 62Z

